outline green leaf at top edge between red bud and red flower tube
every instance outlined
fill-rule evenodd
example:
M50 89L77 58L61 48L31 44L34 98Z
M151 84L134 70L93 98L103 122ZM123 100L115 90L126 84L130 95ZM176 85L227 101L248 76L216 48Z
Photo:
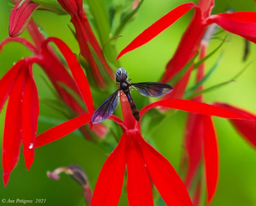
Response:
M50 12L57 13L58 15L67 15L67 12L63 10L58 1L52 0L31 0L36 4L40 4L40 9L49 10Z

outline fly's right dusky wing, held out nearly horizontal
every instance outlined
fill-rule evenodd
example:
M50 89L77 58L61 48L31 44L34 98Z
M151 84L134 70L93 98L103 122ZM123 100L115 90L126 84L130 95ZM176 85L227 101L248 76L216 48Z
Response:
M131 86L146 97L161 97L173 90L172 86L164 83L131 83Z

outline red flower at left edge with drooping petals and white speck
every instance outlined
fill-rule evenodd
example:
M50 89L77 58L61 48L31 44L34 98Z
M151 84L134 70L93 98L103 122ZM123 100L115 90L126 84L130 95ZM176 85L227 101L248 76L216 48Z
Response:
M8 42L8 40L3 42L3 44ZM15 38L15 40L23 42L36 52L36 48L26 40L22 38ZM19 159L21 141L23 143L23 153L27 169L30 168L34 160L39 104L36 84L32 75L32 65L33 63L38 63L38 65L52 63L52 59L49 58L51 54L49 54L47 47L48 42L54 42L65 57L71 70L72 77L74 77L77 92L86 104L88 113L83 115L86 119L84 120L84 124L90 121L93 114L93 100L90 86L84 75L83 69L77 62L76 56L74 56L67 45L58 38L48 38L42 43L39 53L36 53L33 57L24 58L18 61L0 80L0 86L2 88L0 92L0 109L3 107L7 97L9 97L3 138L4 185L7 184L10 173ZM0 45L0 49L3 47L3 44ZM51 77L54 79L54 75L50 74L50 78ZM64 78L64 80L67 79ZM66 82L63 81L62 83L65 84ZM72 101L70 100L70 103L71 102ZM73 100L72 103L75 104L75 101ZM65 129L63 129L63 131L65 131Z

